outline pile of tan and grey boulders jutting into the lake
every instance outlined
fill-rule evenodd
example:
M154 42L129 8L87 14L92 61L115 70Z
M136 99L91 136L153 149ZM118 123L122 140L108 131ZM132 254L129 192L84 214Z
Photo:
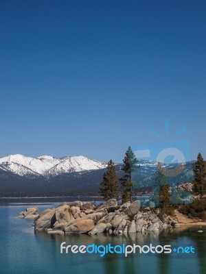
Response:
M166 216L162 221L159 212L152 208L139 208L135 201L119 206L116 199L110 199L99 206L91 202L65 202L57 208L43 210L40 214L38 208L27 208L18 216L34 219L34 229L49 234L121 235L179 227L176 217Z

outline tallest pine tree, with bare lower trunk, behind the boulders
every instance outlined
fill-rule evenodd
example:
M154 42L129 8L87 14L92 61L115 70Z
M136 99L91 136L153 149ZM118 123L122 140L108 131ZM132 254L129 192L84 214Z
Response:
M132 201L132 173L139 167L137 166L138 160L135 158L135 154L130 147L128 147L128 150L125 153L123 162L124 164L121 170L124 171L124 176L120 181L123 188L122 203L125 203L126 201Z

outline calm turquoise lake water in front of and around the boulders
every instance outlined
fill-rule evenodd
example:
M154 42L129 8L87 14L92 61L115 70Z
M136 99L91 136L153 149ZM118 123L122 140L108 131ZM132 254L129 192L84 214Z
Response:
M53 208L38 205L39 211ZM154 232L148 235L129 236L51 235L34 232L32 220L19 219L16 214L24 210L21 206L0 206L0 273L2 274L52 274L52 273L142 273L142 274L205 274L206 273L206 227L187 227ZM190 254L61 254L60 243L67 245L172 245L192 246Z

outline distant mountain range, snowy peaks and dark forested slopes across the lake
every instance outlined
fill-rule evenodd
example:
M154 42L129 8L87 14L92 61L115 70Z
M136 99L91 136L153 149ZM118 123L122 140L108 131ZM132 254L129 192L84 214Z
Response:
M84 156L54 158L41 155L32 158L8 155L0 158L0 197L98 195L106 166L106 162ZM166 166L173 169L175 164ZM121 167L122 164L115 164L119 177L123 174ZM156 162L141 160L139 169L133 174L133 182L137 182L139 187L150 187L155 171ZM169 183L190 182L192 176L192 162L188 162L183 173L175 179L170 178Z

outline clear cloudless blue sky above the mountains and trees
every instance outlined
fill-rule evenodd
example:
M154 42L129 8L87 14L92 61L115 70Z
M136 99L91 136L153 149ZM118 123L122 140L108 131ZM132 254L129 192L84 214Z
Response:
M120 162L170 118L206 158L205 14L204 0L0 1L0 157Z

